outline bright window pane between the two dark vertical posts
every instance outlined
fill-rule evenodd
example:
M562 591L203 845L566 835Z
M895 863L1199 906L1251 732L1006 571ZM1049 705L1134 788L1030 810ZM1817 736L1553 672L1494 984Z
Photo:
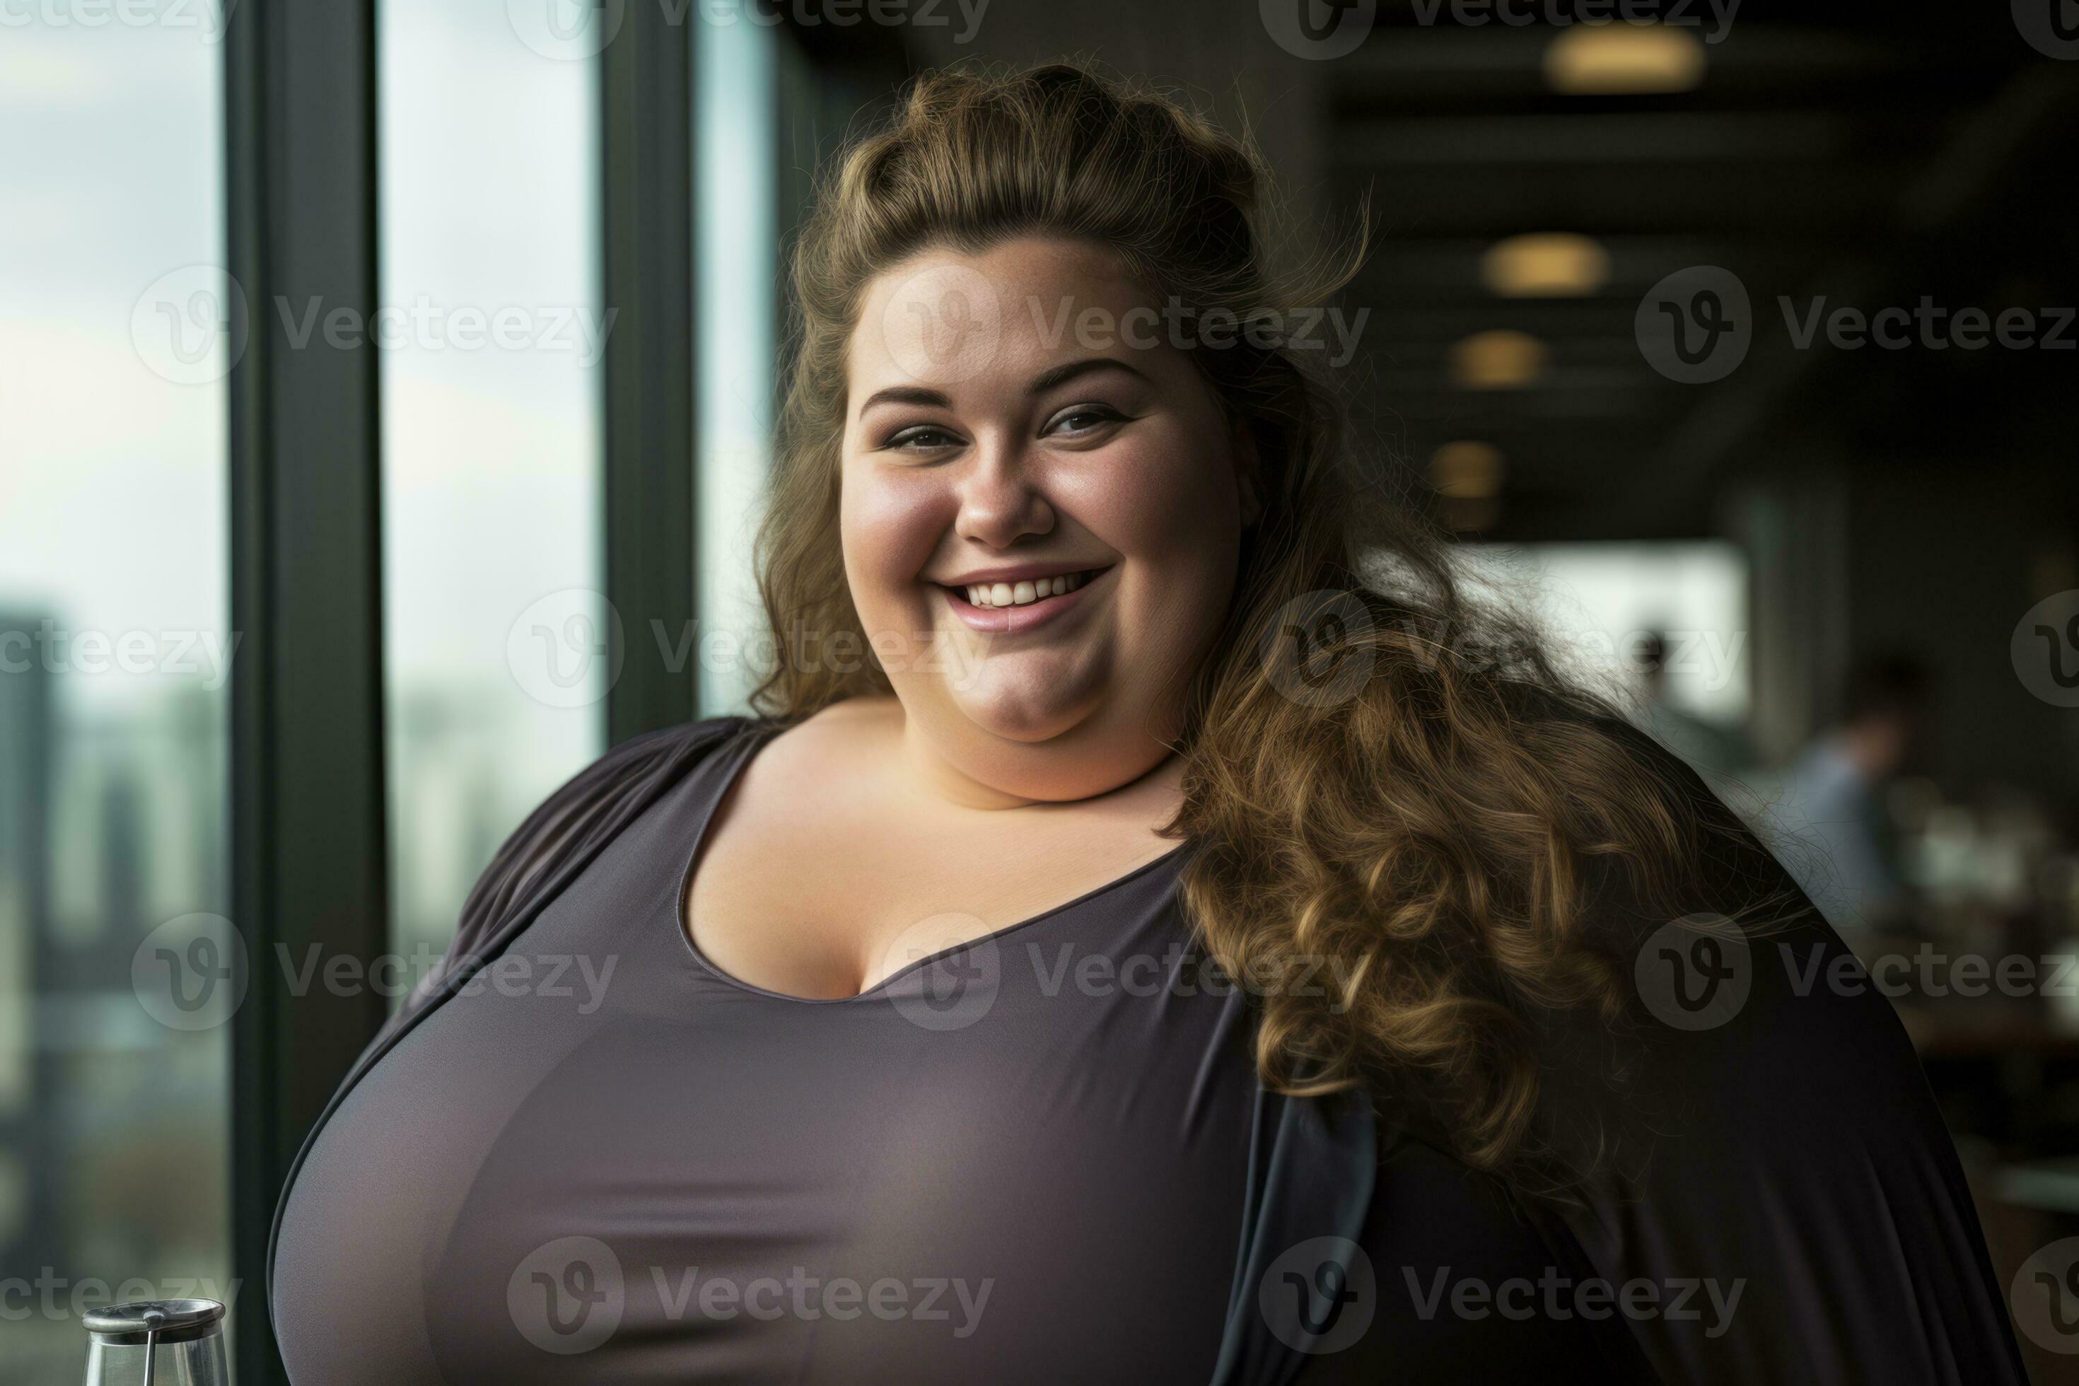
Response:
M445 948L603 746L599 94L503 0L378 15L393 931ZM412 968L414 972L418 968ZM393 997L395 1002L397 997Z

